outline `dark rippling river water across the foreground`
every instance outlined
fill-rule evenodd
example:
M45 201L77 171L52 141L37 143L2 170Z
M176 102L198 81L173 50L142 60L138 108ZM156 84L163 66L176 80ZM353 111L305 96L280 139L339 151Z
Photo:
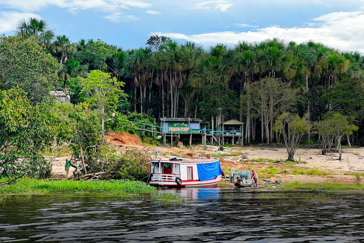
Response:
M11 196L0 242L364 242L364 194L172 190L182 204L117 195Z

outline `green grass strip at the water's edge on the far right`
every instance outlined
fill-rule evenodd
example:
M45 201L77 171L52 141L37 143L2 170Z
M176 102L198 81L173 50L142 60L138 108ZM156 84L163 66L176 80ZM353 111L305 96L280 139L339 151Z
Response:
M328 192L346 192L364 190L364 185L342 184L337 182L325 182L322 184L301 183L299 181L281 184L285 190L306 190L306 191L328 191Z

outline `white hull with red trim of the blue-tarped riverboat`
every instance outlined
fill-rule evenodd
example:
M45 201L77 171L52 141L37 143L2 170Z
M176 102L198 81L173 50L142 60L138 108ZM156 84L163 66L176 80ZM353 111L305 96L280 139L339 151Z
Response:
M178 185L175 181L149 181L149 185L153 186L167 186L174 188L186 188L186 187L213 187L217 186L217 184L222 180L221 175L217 175L212 180L182 180L182 183Z

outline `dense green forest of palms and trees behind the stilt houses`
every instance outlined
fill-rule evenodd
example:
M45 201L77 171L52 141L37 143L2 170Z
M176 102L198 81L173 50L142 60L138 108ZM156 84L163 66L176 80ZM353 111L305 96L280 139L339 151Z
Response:
M298 143L362 146L363 68L359 53L313 41L242 40L205 50L151 36L124 50L102 40L72 43L43 20L23 20L16 34L0 38L0 167L3 174L39 171L39 151L70 146L84 173L99 171L92 163L109 149L98 146L105 130L133 132L127 121L160 117L214 126L237 119L246 144L256 144L286 142L282 115L298 115L312 126ZM54 90L66 91L71 104L55 104Z

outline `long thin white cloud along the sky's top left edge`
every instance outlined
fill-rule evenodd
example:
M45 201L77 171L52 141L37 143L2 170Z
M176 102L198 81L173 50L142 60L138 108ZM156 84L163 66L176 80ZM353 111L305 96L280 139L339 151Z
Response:
M131 7L146 9L150 8L152 4L133 0L0 0L0 6L20 11L39 11L46 7L55 6L68 9L70 12L88 9L115 12Z

